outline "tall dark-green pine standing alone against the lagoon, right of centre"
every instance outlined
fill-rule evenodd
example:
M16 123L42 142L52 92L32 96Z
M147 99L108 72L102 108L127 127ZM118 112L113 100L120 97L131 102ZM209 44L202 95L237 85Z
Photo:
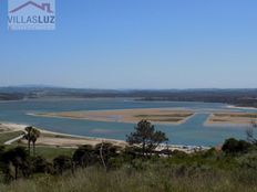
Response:
M126 136L130 145L141 145L143 156L147 156L156 149L160 143L167 141L165 132L156 131L154 126L147 120L141 120L135 127L135 132Z

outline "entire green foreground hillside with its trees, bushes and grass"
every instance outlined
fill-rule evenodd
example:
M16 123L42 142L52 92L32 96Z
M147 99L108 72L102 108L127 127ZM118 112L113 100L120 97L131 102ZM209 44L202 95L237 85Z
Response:
M32 132L30 138L33 138ZM28 131L29 134L29 131ZM130 146L79 149L0 148L0 191L7 192L257 192L257 142L227 139L222 149L155 151L167 140L142 120ZM249 135L250 136L250 135Z

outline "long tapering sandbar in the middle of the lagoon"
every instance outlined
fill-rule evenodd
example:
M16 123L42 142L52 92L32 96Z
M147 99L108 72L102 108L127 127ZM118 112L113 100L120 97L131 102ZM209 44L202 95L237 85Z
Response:
M93 121L115 121L115 122L133 122L133 124L136 124L142 119L146 119L154 124L172 124L172 125L182 124L193 115L194 113L189 110L174 110L168 108L37 114L37 116L43 116L43 117L61 117L61 118L71 118L71 119L86 119Z

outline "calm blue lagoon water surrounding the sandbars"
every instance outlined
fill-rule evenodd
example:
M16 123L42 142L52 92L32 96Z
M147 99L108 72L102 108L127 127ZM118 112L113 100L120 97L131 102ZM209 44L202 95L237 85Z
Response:
M204 126L209 113L215 110L257 111L245 109L228 109L224 104L177 103L177 102L134 102L132 99L84 99L84 100L22 100L0 103L0 121L33 125L47 130L89 137L125 139L133 129L133 124L100 122L90 120L73 120L64 118L33 117L31 113L51 113L70 110L100 110L126 108L161 108L174 107L194 109L197 114L179 126L157 125L171 143L214 146L229 137L245 139L243 127L206 127Z

